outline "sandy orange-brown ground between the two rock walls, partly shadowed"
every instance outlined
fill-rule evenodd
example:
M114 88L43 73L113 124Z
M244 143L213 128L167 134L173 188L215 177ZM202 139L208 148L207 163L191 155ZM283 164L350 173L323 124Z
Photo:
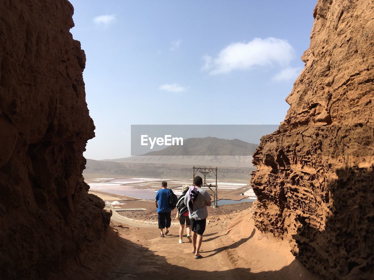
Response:
M279 240L261 236L254 227L252 208L209 217L203 259L194 259L190 243L178 243L178 226L165 238L155 225L137 227L111 222L117 235L111 265L102 275L124 279L308 279L317 280ZM186 237L184 241L187 242ZM104 279L103 278L103 279Z

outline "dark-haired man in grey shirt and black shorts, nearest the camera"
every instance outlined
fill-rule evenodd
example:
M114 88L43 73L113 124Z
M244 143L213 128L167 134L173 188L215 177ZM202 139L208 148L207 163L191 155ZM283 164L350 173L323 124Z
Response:
M187 205L188 215L191 220L191 236L193 245L192 252L195 253L195 259L201 259L203 256L200 255L199 251L201 243L203 241L203 233L205 231L206 218L208 218L207 206L211 206L212 202L208 192L201 188L201 186L203 185L203 179L200 176L196 176L193 179L193 184L194 186L196 186L198 194L196 197L191 199L191 195L188 195L187 193L184 198L184 204ZM189 200L192 200L192 203Z

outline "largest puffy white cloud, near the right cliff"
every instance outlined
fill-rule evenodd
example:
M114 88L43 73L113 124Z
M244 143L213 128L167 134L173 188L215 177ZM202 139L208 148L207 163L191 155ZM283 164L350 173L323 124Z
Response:
M233 70L247 70L258 66L279 64L286 66L294 57L293 47L286 41L269 37L254 38L248 43L232 43L218 53L218 56L204 56L202 70L211 75L228 74Z

